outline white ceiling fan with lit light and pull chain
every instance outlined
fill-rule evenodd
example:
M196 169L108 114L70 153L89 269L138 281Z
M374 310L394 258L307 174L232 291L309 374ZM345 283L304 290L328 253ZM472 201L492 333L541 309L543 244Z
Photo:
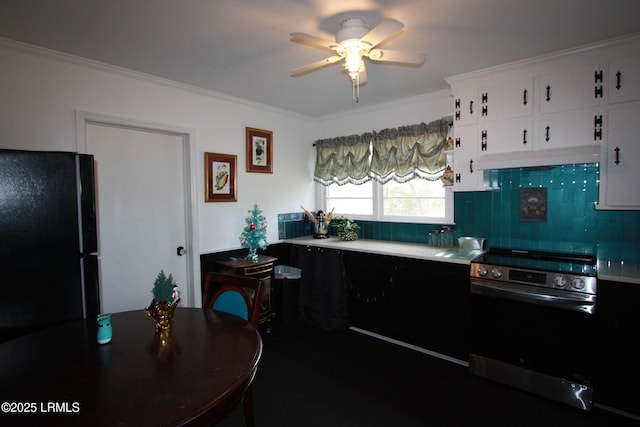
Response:
M291 72L291 76L302 76L344 60L344 72L348 74L352 82L353 98L358 102L360 85L367 82L363 58L369 58L371 61L411 65L421 65L427 59L427 55L424 53L375 48L400 32L403 27L404 24L402 22L385 18L375 27L369 29L365 27L364 19L353 17L342 21L341 28L336 33L335 41L321 39L305 33L291 33L289 36L293 42L327 49L335 53L335 55L328 58L296 68Z

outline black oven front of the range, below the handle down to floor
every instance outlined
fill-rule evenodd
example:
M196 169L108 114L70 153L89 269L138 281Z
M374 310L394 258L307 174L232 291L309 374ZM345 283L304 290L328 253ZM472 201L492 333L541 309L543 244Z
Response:
M594 316L512 296L471 292L470 372L590 410Z

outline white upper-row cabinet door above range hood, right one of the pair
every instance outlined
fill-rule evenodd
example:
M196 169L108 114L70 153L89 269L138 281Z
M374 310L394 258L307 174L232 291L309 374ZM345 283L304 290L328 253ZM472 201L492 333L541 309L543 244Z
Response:
M603 85L603 72L597 65L545 74L540 79L540 112L596 107L602 99Z

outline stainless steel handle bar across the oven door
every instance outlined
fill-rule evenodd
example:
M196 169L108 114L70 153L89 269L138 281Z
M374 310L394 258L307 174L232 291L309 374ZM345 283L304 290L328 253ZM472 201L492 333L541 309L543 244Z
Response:
M578 310L592 313L595 300L587 298L569 298L561 295L550 295L540 291L532 291L530 287L509 286L505 283L493 284L485 282L471 282L471 292L485 294L498 298L513 299L529 303L540 303L566 310Z

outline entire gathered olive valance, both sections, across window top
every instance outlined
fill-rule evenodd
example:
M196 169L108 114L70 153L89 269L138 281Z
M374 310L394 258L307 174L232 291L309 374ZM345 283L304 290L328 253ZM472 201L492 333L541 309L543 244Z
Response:
M446 166L447 120L315 142L314 180L323 184L436 180Z

